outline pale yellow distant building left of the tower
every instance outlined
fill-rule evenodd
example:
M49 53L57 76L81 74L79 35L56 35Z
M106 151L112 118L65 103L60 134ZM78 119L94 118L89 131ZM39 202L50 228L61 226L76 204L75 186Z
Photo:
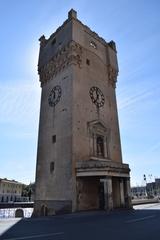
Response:
M15 180L0 178L0 202L21 201L23 184Z

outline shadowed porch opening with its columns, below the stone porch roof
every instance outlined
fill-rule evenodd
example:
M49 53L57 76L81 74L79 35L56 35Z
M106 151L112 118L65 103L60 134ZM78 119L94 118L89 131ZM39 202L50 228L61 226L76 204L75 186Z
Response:
M125 177L78 177L77 211L131 208L128 182Z

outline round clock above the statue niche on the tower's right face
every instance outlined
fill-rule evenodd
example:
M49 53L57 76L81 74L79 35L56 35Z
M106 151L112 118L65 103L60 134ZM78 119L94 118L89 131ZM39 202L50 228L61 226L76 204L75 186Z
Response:
M98 87L91 87L89 90L90 97L92 102L97 107L102 107L104 105L104 95Z

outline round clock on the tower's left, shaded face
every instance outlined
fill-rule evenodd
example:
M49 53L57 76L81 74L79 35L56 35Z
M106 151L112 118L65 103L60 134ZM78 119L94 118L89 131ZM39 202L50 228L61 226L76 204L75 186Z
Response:
M55 86L48 97L48 103L51 107L54 107L60 100L62 94L62 89L60 86Z

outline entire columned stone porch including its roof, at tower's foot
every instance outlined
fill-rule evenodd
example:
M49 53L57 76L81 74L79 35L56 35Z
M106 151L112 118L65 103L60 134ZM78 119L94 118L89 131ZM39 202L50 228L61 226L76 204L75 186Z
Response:
M132 208L129 171L113 161L79 161L77 210Z

